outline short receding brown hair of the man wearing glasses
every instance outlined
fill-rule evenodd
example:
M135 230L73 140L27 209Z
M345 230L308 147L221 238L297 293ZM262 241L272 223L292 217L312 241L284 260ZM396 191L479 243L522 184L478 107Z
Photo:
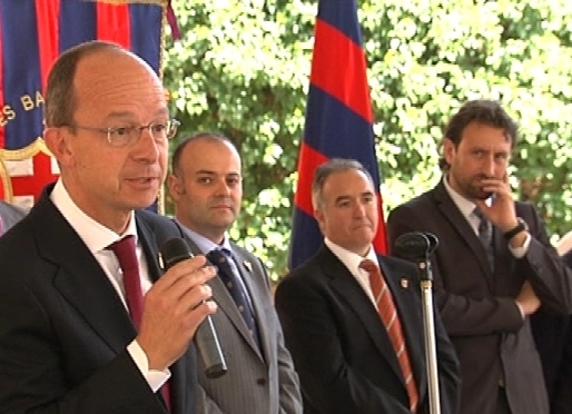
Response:
M75 46L61 53L48 75L45 97L45 122L48 127L61 127L73 124L77 99L73 79L81 58L101 50L125 50L117 43L101 40L88 41Z

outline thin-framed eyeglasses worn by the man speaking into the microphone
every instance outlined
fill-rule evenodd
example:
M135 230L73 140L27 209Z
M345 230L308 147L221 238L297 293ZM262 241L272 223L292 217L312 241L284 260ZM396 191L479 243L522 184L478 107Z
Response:
M165 127L165 137L160 137L160 139L158 139L156 137L157 132L152 131L152 128L157 127L157 126ZM150 121L147 125L129 126L129 127L107 127L106 128L106 127L90 127L90 126L78 125L78 124L62 125L61 127L82 129L86 131L105 134L105 135L107 135L107 142L111 147L121 148L121 147L127 147L130 144L137 142L139 140L139 138L141 138L144 129L149 130L149 134L151 135L152 139L156 142L160 144L164 141L168 141L168 140L172 139L175 137L175 135L177 135L177 129L179 128L179 126L180 126L180 121L172 118L166 122ZM124 130L125 136L128 137L129 139L122 144L114 144L114 142L117 142L117 137L122 137L121 135L117 135L121 130ZM132 134L135 134L135 131L137 131L137 136L132 135Z

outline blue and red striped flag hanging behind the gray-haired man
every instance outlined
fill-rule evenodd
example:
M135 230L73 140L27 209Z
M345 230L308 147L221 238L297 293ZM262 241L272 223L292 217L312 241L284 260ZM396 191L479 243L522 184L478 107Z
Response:
M290 269L309 258L322 244L310 187L315 168L331 158L353 158L369 170L379 201L379 228L374 247L379 253L387 249L369 86L355 0L318 2L309 81L294 197Z

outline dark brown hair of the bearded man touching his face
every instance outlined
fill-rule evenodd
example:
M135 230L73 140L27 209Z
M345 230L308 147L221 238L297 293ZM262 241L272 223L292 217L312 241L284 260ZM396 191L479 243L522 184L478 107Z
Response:
M500 102L487 99L465 102L446 125L443 140L448 139L455 147L458 147L463 138L463 131L472 122L502 128L504 136L511 141L511 149L515 147L517 139L516 122L504 111ZM448 164L444 157L441 157L438 165L443 170L448 169Z

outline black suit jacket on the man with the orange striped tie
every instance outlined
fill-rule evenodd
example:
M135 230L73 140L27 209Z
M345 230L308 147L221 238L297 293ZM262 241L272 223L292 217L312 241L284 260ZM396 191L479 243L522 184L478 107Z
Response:
M404 329L428 413L422 304L415 267L378 257ZM405 286L406 285L406 286ZM405 286L405 287L404 287ZM408 396L395 351L375 306L344 264L323 246L278 285L276 309L300 377L308 414L405 414ZM435 317L441 412L456 413L458 363Z

